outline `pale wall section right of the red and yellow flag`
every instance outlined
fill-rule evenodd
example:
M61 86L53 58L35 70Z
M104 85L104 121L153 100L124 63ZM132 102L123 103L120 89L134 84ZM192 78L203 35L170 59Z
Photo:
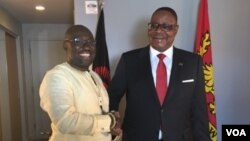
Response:
M222 124L250 124L250 1L208 1L220 131Z

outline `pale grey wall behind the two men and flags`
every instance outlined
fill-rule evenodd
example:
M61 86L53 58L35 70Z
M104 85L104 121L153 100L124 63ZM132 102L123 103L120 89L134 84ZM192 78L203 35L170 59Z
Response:
M84 1L75 0L75 24L84 24L95 33L97 15L84 13ZM147 22L161 6L176 10L180 30L175 45L192 52L198 5L199 0L106 0L111 73L122 52L147 44ZM249 0L208 0L219 141L222 124L250 124L249 5Z

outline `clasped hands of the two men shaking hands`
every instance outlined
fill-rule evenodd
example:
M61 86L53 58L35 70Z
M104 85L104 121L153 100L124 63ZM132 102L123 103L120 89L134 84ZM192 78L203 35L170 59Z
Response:
M111 118L110 131L113 136L120 136L122 134L121 129L121 117L119 112L111 111L108 113Z

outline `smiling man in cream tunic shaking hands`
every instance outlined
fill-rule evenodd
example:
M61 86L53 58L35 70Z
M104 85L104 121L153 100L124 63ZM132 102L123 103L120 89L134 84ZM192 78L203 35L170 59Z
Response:
M65 34L67 62L49 70L40 86L40 105L51 119L50 141L111 141L118 135L117 113L99 76L89 66L96 47L92 33L82 25Z

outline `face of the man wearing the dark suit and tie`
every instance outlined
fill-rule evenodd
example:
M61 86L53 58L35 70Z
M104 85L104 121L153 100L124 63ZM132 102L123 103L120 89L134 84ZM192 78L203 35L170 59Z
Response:
M151 23L177 25L175 17L170 12L163 10L152 15ZM161 28L157 30L148 29L149 44L159 52L164 52L173 45L177 32L178 26L171 31L165 31Z

